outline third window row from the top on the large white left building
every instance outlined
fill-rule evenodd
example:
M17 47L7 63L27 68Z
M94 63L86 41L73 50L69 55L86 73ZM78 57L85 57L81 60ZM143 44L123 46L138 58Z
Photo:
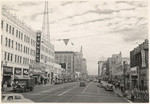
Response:
M22 56L13 55L12 53L9 53L9 52L4 53L4 60L15 62L15 63L20 63L20 64L25 64L25 65L29 64L29 58L25 58L25 57L22 58ZM31 64L33 64L33 61L34 60L30 59Z

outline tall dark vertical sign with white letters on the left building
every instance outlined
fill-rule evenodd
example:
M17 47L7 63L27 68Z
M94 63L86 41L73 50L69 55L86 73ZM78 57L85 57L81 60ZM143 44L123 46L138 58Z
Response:
M36 34L36 62L40 62L41 32Z

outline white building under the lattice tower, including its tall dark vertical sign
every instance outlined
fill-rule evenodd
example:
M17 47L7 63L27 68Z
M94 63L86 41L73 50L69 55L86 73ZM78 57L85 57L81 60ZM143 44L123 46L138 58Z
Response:
M54 70L54 45L46 41L41 31L36 32L36 66L41 70L40 76L52 83ZM44 73L42 73L42 70ZM39 76L39 77L40 77ZM39 78L38 77L38 78Z

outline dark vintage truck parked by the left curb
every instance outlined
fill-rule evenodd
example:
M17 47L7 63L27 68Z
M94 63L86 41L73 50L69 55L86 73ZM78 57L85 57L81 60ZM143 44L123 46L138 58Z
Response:
M25 92L32 91L35 87L35 79L34 78L25 78L25 79L15 79L17 84L14 84L13 91Z

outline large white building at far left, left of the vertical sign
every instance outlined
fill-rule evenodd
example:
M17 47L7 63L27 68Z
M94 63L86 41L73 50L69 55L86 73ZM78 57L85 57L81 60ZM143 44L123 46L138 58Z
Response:
M5 7L1 14L2 81L9 85L16 77L29 76L29 65L35 62L36 34Z

